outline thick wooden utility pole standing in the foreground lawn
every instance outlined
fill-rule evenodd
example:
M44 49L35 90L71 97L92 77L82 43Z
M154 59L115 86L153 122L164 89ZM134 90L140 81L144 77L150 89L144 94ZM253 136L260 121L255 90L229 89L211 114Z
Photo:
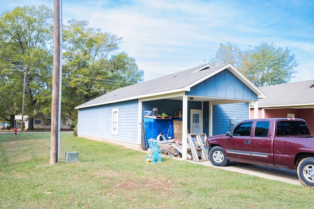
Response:
M51 107L51 142L50 164L57 163L58 156L58 109L60 85L60 1L53 0L53 72L52 72L52 107Z

